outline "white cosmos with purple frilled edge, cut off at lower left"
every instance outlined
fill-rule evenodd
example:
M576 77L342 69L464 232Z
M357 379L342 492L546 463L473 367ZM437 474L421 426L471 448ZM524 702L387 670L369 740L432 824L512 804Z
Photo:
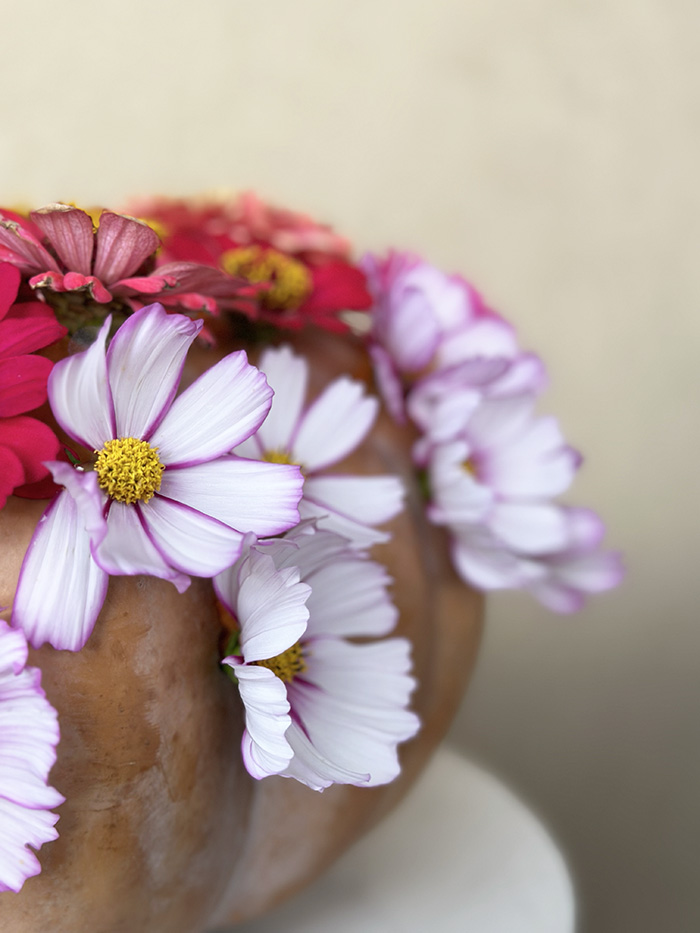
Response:
M41 865L27 846L56 839L52 807L63 797L48 785L59 739L56 711L41 671L25 667L27 642L0 620L0 891L19 891Z

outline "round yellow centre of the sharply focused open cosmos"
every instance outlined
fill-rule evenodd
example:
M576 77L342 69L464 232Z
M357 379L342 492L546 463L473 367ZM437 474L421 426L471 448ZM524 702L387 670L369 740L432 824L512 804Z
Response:
M165 467L158 448L136 437L119 437L96 450L100 488L118 502L148 502L160 489Z

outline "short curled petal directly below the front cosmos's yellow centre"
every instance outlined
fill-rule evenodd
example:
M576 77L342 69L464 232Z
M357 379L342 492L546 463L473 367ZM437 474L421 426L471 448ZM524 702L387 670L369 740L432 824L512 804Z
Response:
M171 567L149 537L141 521L138 505L113 501L107 515L107 535L92 549L95 561L109 574L147 574L175 584L184 593L190 578Z

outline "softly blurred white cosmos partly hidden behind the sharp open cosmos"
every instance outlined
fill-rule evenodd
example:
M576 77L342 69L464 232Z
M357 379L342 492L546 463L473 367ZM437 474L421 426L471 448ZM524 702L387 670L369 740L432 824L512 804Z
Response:
M328 467L350 454L367 436L377 416L377 399L362 383L341 376L304 407L308 364L289 347L266 350L260 358L275 397L258 432L235 449L242 457L297 463L305 476L299 503L302 518L344 535L357 547L387 541L376 525L399 513L404 490L395 476L354 476Z

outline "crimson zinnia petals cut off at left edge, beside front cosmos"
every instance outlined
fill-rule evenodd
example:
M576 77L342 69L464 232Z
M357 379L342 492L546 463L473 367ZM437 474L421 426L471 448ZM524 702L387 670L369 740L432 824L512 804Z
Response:
M46 401L53 366L34 351L66 329L40 302L13 304L19 282L14 266L0 263L0 508L17 487L48 476L43 461L58 454L51 428L25 413Z

